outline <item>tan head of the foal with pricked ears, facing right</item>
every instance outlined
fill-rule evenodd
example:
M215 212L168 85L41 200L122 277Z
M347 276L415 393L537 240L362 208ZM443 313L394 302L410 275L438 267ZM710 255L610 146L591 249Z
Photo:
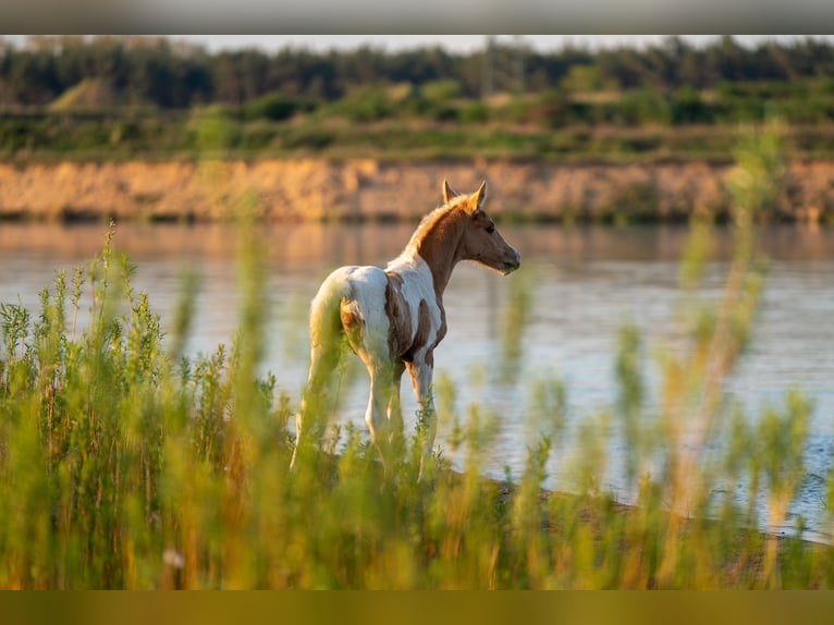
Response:
M461 197L443 181L443 200L455 203L466 215L464 234L458 254L462 260L475 260L504 275L515 271L522 264L522 255L499 233L495 223L483 211L487 199L487 181L474 194Z

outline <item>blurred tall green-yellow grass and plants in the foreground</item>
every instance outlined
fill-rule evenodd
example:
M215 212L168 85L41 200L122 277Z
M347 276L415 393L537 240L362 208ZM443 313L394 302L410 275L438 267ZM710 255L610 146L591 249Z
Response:
M483 477L499 434L478 406L454 417L447 441L461 471L441 454L418 482L415 431L383 473L349 426L322 432L291 471L297 397L259 373L266 264L254 221L238 229L240 329L231 347L197 356L184 352L195 279L184 279L164 323L148 294L134 291L135 267L115 254L111 229L71 284L59 273L42 291L39 316L0 307L0 587L834 585L830 547L757 531L757 498L778 525L796 495L808 401L792 393L756 418L722 392L752 336L762 287L753 211L778 163L771 134L750 140L735 187L737 252L718 302L698 294L710 225L692 226L682 265L684 346L659 356L659 406L646 399L643 339L624 328L618 394L609 412L581 421L572 454L563 441L569 389L536 380L529 453L512 481ZM514 326L533 296L529 283L517 290L519 309L504 317L511 373L523 357ZM453 405L449 380L439 380L438 395L441 408ZM631 507L602 486L615 436L627 450ZM554 450L576 476L575 494L541 489ZM741 503L732 497L738 485L748 493Z

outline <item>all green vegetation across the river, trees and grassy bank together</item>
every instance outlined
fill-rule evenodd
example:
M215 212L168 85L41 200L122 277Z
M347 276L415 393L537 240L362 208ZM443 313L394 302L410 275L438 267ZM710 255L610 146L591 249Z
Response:
M194 119L243 155L728 158L726 127L777 115L831 157L834 46L671 37L645 49L469 53L364 47L209 53L164 38L0 39L0 157L168 157Z

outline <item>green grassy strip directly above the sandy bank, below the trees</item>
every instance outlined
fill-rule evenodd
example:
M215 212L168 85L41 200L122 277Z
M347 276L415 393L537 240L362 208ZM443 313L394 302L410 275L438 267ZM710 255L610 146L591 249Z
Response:
M761 122L759 122L761 123ZM551 126L495 121L361 121L338 113L291 121L246 119L216 107L167 112L0 113L0 159L56 161L192 160L211 151L233 159L373 158L402 162L482 158L565 164L732 162L739 125L582 123ZM834 159L834 125L794 123L786 138L796 158Z

